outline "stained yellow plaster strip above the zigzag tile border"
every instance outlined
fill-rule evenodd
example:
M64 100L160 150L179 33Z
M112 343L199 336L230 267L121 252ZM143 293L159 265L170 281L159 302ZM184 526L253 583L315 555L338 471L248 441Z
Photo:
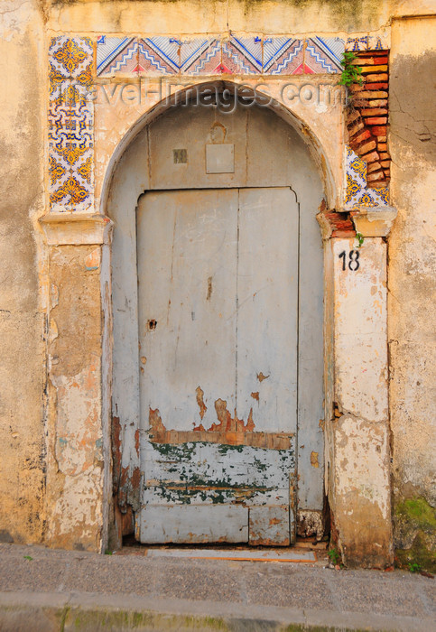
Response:
M46 0L47 27L98 33L367 33L432 0Z

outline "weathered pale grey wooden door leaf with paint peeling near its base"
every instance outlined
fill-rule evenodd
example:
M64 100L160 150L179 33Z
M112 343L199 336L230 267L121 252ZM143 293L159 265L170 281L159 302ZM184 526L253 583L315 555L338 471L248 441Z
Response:
M287 187L139 200L144 543L294 539L298 224Z

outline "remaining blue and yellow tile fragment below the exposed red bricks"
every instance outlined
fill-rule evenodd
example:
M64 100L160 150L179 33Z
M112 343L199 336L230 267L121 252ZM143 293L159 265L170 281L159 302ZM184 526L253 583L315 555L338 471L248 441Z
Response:
M345 209L389 204L389 188L371 189L366 185L366 163L348 145L345 147L345 163Z

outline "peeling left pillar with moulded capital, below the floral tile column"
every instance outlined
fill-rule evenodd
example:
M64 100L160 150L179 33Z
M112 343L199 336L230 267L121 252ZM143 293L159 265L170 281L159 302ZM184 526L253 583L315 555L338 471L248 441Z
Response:
M41 222L51 289L47 544L101 552L107 544L110 481L104 392L110 375L106 261L111 222L68 212L51 213Z

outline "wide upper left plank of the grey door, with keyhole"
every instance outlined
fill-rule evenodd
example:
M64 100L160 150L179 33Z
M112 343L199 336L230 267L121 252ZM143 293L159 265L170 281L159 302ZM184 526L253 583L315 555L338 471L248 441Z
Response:
M146 193L137 240L143 427L209 427L201 392L235 406L237 191Z

